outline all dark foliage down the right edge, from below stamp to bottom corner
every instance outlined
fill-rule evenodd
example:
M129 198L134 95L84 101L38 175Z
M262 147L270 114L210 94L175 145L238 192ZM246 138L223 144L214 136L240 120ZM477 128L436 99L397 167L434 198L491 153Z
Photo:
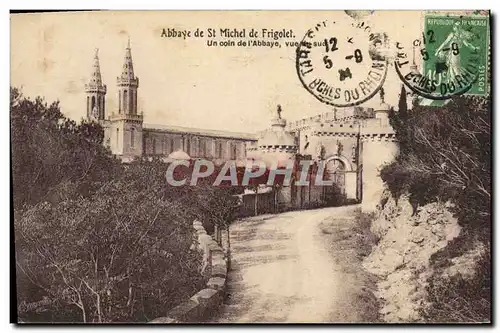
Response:
M491 101L477 96L454 97L443 107L414 105L391 112L400 154L381 170L398 198L409 194L416 208L450 201L463 227L461 236L432 259L423 317L431 322L489 321L490 255L476 263L475 276L440 274L449 258L460 256L476 240L490 246L491 237Z

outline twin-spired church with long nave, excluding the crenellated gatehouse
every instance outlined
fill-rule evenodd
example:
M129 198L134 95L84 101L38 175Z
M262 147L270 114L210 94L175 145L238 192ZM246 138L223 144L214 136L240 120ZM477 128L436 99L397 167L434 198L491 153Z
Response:
M118 109L106 109L106 85L102 81L96 51L92 75L85 85L87 118L98 120L104 127L104 143L123 161L140 156L169 155L184 158L205 158L225 161L245 158L247 145L256 142L255 135L204 130L169 125L145 124L137 104L139 78L134 73L130 41L118 87Z

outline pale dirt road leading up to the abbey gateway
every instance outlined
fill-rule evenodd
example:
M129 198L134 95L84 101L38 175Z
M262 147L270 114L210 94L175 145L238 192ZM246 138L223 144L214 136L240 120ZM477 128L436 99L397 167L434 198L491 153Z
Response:
M348 267L357 265L349 257L355 251L332 253L328 239L336 230L349 233L355 208L258 216L231 226L229 295L213 322L359 322L352 278L362 268Z

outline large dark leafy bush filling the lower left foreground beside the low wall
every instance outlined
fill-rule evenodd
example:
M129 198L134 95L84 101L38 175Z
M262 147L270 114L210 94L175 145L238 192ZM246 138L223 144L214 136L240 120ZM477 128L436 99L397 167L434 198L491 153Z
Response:
M197 290L189 220L160 186L137 191L136 183L110 181L91 197L16 216L18 275L79 309L73 320L150 320Z

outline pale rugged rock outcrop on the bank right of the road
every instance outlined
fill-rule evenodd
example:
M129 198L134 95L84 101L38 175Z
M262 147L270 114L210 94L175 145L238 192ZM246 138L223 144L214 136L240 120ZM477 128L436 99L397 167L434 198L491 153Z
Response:
M430 257L457 237L461 227L449 204L430 203L414 212L407 197L396 202L388 191L381 202L371 227L380 240L363 266L380 278L375 294L382 302L381 319L418 321L432 274Z

